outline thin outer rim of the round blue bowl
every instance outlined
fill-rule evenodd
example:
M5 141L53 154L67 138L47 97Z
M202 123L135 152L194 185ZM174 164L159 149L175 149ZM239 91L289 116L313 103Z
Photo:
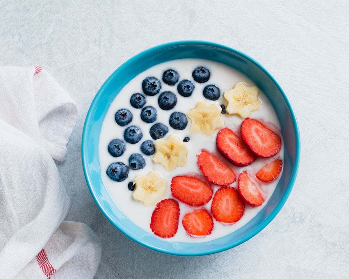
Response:
M181 45L204 45L204 46L209 46L209 47L214 47L214 48L220 48L221 50L225 50L225 51L229 51L232 53L235 53L237 55L242 56L243 58L245 58L246 60L250 61L251 63L253 63L255 66L257 66L258 68L260 68L269 78L270 80L275 84L275 86L277 87L277 89L281 92L282 97L284 98L287 107L290 111L290 115L292 118L292 123L294 125L295 128L295 140L296 140L296 156L295 156L295 167L294 170L292 172L292 176L290 179L290 182L288 183L284 194L282 195L279 203L276 205L275 209L270 213L270 215L262 222L258 225L257 228L255 228L253 231L251 231L250 233L246 234L244 237L242 237L239 241L235 242L235 243L226 243L223 246L217 247L216 249L210 249L210 250L204 250L204 251L199 251L199 252L191 252L191 251L178 251L178 252L171 252L171 251L167 251L166 249L163 248L159 248L159 247L154 247L150 244L148 244L147 242L143 242L140 241L138 239L136 239L132 234L128 234L128 232L126 232L122 227L119 227L119 225L117 223L114 222L114 220L112 220L109 216L109 214L107 214L107 212L105 212L104 208L102 207L102 205L99 203L99 201L96 198L96 193L92 187L92 183L90 180L90 177L88 175L87 172L87 165L88 162L86 161L86 157L85 157L85 141L87 142L87 129L89 126L89 122L91 121L91 111L94 110L95 106L97 105L97 100L99 98L99 95L102 94L102 91L104 90L104 88L109 85L109 83L111 82L111 80L113 79L113 77L116 75L118 69L126 66L129 62L131 62L132 60L138 59L140 56L142 55L146 55L147 53L162 49L162 48L168 48L168 47L175 47L175 46L181 46ZM218 252L222 252L228 249L231 249L233 247L236 247L242 243L244 243L245 241L251 239L253 236L255 236L256 234L258 234L260 231L262 231L262 229L264 229L277 215L277 213L279 213L279 211L281 210L281 208L283 207L283 205L285 204L287 198L290 195L290 192L293 188L293 185L295 183L296 180L296 176L297 176L297 172L298 172L298 167L299 167L299 159L300 159L300 135L299 135L299 128L298 128L298 123L297 123L297 119L295 116L295 113L291 107L290 101L288 99L288 97L286 96L284 90L282 89L282 87L280 86L280 84L275 80L275 78L269 73L268 70L266 70L258 61L256 61L255 59L253 59L251 56L236 50L235 48L229 47L229 46L225 46L222 44L218 44L218 43L214 43L214 42L208 42L208 41L202 41L202 40L181 40L181 41L174 41L174 42L169 42L169 43L165 43L165 44L160 44L154 47L150 47L147 50L144 50L136 55L134 55L132 58L128 59L127 61L125 61L124 63L122 63L116 70L113 71L113 73L105 80L105 82L102 84L101 88L97 91L94 99L91 102L91 105L89 107L89 110L86 114L86 118L85 118L85 122L84 122L84 126L83 126L83 131L82 131L82 143L81 143L81 157L82 157L82 167L83 167L83 171L84 171L84 176L87 182L87 186L90 190L91 196L93 197L95 203L97 204L99 210L101 210L101 212L104 214L104 216L110 221L110 223L116 227L122 234L124 234L125 236L127 236L129 239L135 241L138 244L141 244L144 247L147 247L151 250L155 250L158 252L162 252L165 254L170 254L170 255L176 255L176 256L203 256L203 255L210 255L210 254L215 254ZM203 242L205 243L205 242Z

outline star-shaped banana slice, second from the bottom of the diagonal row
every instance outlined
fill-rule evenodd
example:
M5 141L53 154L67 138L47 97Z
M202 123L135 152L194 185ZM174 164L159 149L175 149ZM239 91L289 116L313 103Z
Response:
M166 140L155 141L154 163L162 164L167 172L187 164L187 145L177 134L171 134Z

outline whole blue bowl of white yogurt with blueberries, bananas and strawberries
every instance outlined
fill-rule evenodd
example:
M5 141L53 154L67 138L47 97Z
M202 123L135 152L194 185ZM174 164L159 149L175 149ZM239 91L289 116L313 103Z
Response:
M295 116L258 62L208 42L144 51L102 85L82 160L122 233L173 255L232 248L285 203L299 161Z

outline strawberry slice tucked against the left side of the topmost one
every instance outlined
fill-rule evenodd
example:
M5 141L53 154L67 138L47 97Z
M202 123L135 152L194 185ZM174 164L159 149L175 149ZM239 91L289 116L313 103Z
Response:
M224 128L218 132L216 142L222 155L236 166L247 166L257 159L246 143L229 128Z

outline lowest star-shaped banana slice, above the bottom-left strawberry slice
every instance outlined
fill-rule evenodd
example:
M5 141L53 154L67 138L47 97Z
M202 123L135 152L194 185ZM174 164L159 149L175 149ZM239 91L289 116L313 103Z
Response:
M167 189L167 181L157 171L150 171L146 176L138 175L133 183L136 184L136 189L132 197L148 207L160 201Z

